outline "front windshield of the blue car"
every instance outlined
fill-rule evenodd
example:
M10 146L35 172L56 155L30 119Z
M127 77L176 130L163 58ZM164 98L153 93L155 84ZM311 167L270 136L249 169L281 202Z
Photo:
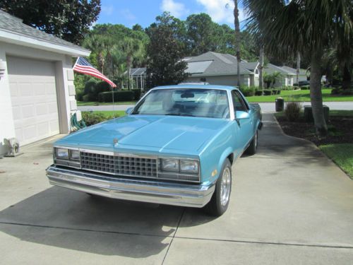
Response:
M201 88L156 89L148 93L131 114L227 119L227 91Z

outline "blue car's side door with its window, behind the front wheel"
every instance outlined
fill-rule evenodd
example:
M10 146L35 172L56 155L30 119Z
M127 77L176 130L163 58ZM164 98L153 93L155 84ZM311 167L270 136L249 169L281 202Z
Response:
M234 122L239 127L239 139L237 140L241 143L241 148L244 149L253 138L253 119L251 119L251 113L249 113L249 106L244 102L238 90L232 90L232 100L236 117ZM248 112L250 116L246 119L237 119L237 112Z

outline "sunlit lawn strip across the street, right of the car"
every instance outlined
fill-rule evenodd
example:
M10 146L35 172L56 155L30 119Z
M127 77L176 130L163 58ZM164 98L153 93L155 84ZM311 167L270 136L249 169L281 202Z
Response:
M353 101L353 95L331 95L331 89L323 89L323 101ZM249 102L275 102L282 97L285 101L310 101L310 90L282 90L280 95L254 95L246 97Z

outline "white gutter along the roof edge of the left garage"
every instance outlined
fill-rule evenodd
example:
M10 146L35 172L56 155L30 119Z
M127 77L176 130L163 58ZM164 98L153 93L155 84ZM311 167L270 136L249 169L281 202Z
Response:
M4 29L0 30L0 41L25 47L31 47L35 49L43 49L49 52L56 52L59 54L69 54L73 57L86 57L90 55L90 51L88 49L77 49L74 47L68 47L66 45L58 45L53 42L37 40L35 38L21 35L18 33L12 33Z

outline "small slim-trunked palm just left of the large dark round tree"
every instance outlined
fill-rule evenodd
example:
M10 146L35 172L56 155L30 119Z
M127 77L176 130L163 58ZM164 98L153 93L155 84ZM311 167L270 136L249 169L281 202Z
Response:
M121 43L122 51L126 56L126 66L128 69L128 90L130 90L130 72L133 60L139 60L143 57L143 42L132 37L125 37Z

